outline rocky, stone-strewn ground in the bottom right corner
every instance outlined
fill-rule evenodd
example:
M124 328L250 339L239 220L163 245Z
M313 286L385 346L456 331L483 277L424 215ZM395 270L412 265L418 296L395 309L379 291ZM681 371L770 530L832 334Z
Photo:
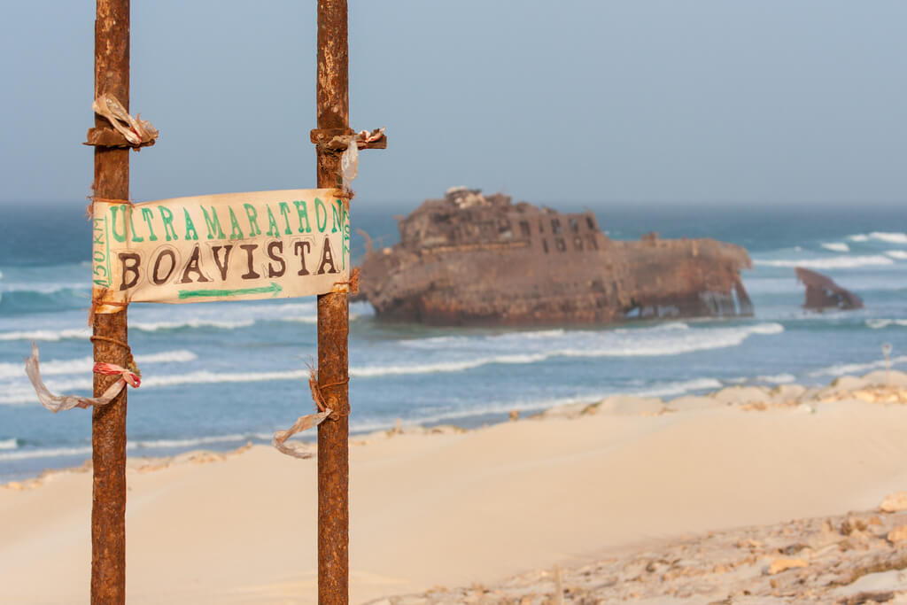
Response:
M499 603L907 602L907 492L878 510L797 519L624 549L573 568L530 571L369 601L370 605Z

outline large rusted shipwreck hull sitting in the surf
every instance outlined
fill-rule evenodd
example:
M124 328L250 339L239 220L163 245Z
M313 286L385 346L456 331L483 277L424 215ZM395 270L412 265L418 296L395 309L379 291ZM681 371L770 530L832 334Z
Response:
M591 211L561 213L454 188L366 235L361 298L383 319L433 325L611 323L751 316L746 249L714 239L610 239Z

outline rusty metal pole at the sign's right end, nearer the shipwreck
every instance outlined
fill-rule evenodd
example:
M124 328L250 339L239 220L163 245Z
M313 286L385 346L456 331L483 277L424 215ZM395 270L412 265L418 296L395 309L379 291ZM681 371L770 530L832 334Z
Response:
M317 127L349 129L346 0L318 0ZM354 143L355 144L355 143ZM317 147L319 188L340 186L340 157ZM335 410L318 425L318 603L349 602L349 303L318 297L318 385Z

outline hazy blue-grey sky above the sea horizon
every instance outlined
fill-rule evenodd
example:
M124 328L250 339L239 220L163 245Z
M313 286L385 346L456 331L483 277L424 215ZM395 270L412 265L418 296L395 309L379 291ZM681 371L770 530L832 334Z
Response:
M907 200L902 0L350 0L356 201ZM94 3L5 3L0 204L90 194ZM315 0L132 3L138 201L315 187Z

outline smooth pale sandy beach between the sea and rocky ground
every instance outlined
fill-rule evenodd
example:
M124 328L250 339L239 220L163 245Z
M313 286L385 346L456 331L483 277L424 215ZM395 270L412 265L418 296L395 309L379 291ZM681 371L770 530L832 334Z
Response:
M887 495L907 490L907 375L885 379L742 386L667 403L616 396L473 431L402 427L354 438L351 600L547 602L541 589L503 587L532 578L553 586L543 576L555 566L565 578L585 570L607 584L617 576L602 561L657 557L691 536L717 535L708 532L757 542L749 564L761 578L780 555L752 537L754 526L803 532L806 543L824 522L787 522L850 511L863 512L861 532L902 549L887 540L898 513L872 521ZM316 602L315 470L314 460L266 446L131 460L129 601ZM0 487L0 601L87 602L91 490L85 468ZM833 529L846 538L841 523ZM821 547L810 549L791 556L808 566ZM663 602L735 590L721 586L706 600L666 593ZM479 588L467 599L456 587ZM660 598L631 592L595 599ZM587 601L564 594L600 602L589 590Z

